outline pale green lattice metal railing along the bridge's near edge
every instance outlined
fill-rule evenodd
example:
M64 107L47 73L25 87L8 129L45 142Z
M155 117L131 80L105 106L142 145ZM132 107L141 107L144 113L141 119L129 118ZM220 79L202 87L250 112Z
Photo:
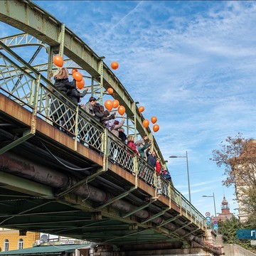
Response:
M107 154L107 158L114 164L137 175L166 198L171 198L183 212L206 227L203 215L174 188L170 181L162 176L156 176L153 167L134 154L129 146L81 107L70 102L68 97L56 90L41 73L8 49L5 54L0 50L0 91L37 117L68 133L75 143L82 143L101 154ZM106 137L107 142L104 139ZM107 143L107 147L104 142Z

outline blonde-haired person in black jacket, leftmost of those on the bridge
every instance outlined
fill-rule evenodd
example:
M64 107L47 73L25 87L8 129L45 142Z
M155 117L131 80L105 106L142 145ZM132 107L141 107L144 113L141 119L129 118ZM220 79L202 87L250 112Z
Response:
M75 79L70 82L68 80L68 69L60 68L58 73L54 76L54 87L58 89L63 95L67 95L69 89L76 87ZM52 101L50 103L50 117L53 119L53 126L60 128L68 127L68 101L57 90L54 90Z

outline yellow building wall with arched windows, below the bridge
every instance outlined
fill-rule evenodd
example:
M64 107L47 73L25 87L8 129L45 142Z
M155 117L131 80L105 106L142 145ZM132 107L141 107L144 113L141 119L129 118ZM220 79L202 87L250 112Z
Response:
M18 230L0 229L0 252L4 251L4 240L9 240L9 250L18 250L18 240L23 239L23 249L33 247L36 240L40 239L40 233L27 232L19 235Z

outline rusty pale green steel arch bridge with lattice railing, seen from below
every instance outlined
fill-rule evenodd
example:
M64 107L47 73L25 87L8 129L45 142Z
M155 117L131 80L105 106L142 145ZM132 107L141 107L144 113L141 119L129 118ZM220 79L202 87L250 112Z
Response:
M172 183L78 106L53 95L58 54L101 103L119 100L127 134L147 134L164 164L136 102L104 58L32 1L0 1L0 21L23 31L0 40L0 226L117 246L196 243L220 255L203 240L206 219ZM59 119L71 113L63 130L72 137L53 127L53 102L64 109Z

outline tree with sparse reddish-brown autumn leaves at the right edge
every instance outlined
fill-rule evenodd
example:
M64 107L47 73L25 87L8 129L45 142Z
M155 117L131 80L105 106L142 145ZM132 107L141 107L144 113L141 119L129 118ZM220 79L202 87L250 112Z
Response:
M218 167L224 166L223 185L235 185L242 211L256 226L256 140L245 139L240 133L235 138L227 137L220 143L220 149L213 150L210 160Z

